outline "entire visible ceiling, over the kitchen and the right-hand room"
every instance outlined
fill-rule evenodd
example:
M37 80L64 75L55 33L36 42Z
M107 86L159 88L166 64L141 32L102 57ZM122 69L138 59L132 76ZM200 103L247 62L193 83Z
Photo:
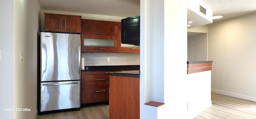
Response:
M220 21L256 12L256 0L201 0ZM42 10L131 17L140 15L140 0L38 0Z

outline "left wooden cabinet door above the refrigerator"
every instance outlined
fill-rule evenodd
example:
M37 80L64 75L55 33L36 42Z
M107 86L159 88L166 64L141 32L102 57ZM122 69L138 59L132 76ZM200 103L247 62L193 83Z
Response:
M45 31L63 32L63 16L56 14L44 14Z

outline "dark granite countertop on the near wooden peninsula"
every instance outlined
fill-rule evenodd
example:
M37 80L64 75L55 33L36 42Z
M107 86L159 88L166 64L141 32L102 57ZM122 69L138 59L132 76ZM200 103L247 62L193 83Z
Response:
M122 71L122 72L110 72L110 73L108 73L108 75L140 78L140 70Z

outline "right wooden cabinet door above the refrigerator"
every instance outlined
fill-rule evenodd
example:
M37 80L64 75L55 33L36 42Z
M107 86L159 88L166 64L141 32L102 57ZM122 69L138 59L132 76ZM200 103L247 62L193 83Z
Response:
M68 33L81 33L80 16L63 16L63 30Z

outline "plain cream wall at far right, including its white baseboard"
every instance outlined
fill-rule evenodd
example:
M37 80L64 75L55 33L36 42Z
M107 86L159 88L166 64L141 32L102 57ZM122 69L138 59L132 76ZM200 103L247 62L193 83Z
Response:
M212 92L256 101L256 13L208 25Z

